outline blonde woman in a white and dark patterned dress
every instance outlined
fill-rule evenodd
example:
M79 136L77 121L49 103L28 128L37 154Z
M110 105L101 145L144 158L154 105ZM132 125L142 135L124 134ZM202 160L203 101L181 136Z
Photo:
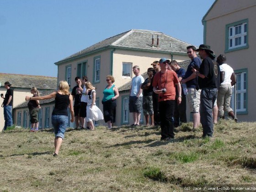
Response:
M86 121L88 122L90 130L94 130L94 125L92 121L103 119L103 114L95 104L95 100L96 100L95 87L93 87L89 81L85 83L85 87L87 90L90 90L87 94L88 102L86 106Z

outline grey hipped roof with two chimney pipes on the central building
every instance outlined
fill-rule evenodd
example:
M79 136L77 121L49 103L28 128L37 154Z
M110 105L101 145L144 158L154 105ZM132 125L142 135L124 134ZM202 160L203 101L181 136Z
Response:
M154 46L152 46L152 35L154 35ZM157 36L159 37L159 48L157 48ZM187 46L191 44L183 42L174 37L168 36L162 32L131 29L127 32L120 33L113 37L109 37L99 43L96 43L88 48L85 48L75 54L64 58L55 64L61 64L72 59L78 59L87 54L101 51L106 48L126 48L126 49L139 49L144 51L166 53L187 53Z

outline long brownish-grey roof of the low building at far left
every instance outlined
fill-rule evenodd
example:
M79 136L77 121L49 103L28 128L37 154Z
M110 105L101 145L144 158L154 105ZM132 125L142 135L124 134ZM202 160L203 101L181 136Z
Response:
M57 77L37 76L37 75L20 75L0 73L0 86L9 81L12 87L55 90L57 88Z

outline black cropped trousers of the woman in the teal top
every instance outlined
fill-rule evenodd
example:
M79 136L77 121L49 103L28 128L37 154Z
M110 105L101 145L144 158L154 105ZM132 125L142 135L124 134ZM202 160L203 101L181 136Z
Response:
M115 109L117 107L117 102L116 100L109 100L109 101L101 101L103 104L103 115L104 115L104 120L105 123L108 121L111 121L111 123L115 123Z

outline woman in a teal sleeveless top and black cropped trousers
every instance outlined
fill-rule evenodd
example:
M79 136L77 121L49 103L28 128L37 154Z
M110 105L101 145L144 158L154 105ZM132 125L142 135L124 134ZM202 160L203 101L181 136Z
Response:
M103 90L103 114L105 123L107 123L107 128L112 128L112 123L115 123L115 110L117 107L116 99L119 96L118 89L113 83L115 78L112 75L107 75L106 77L107 86Z

